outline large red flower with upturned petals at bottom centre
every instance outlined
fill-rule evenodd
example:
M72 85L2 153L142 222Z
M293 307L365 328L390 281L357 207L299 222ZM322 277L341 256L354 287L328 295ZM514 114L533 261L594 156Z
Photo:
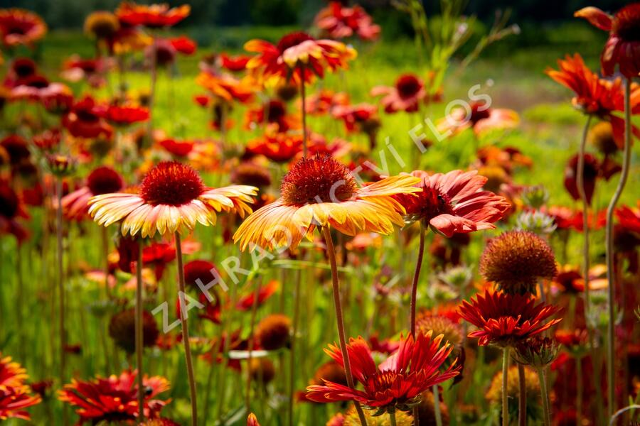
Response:
M329 345L326 354L338 364L342 364L342 354L335 345ZM459 374L459 366L453 361L445 371L439 367L452 351L449 343L442 344L442 334L432 338L432 333L417 334L400 340L398 351L378 366L368 344L362 337L351 339L347 345L353 377L361 383L363 391L331 381L324 385L306 388L306 398L318 403L355 400L378 413L394 410L408 411L420 403L422 391L454 378Z

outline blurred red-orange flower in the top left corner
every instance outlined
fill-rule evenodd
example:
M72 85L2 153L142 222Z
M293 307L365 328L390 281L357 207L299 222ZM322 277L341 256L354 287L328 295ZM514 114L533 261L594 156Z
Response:
M5 46L31 46L47 33L47 24L25 9L0 9L0 35Z

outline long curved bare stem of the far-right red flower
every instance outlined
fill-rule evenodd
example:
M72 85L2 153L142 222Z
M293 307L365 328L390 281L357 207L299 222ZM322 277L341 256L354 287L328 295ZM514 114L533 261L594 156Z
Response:
M607 207L607 227L605 229L605 240L607 242L607 283L609 284L607 292L607 301L609 302L609 324L607 327L607 393L608 393L608 417L611 417L616 410L615 402L615 272L614 272L614 246L613 246L613 214L616 204L620 200L626 180L629 178L629 165L631 163L631 79L626 80L624 85L624 159L622 160L622 172L620 172L620 180L616 192Z

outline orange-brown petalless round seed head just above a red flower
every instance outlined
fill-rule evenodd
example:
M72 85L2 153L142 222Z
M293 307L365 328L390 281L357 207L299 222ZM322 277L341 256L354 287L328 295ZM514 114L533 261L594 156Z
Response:
M480 258L480 273L505 293L535 294L540 278L558 274L555 256L544 239L528 231L508 231L494 238Z

